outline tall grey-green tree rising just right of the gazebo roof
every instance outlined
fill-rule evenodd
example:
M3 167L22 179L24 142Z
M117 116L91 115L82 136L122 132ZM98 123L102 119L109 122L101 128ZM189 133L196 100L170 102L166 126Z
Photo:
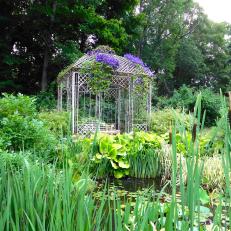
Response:
M137 47L143 59L155 70L160 92L170 94L173 90L172 74L177 49L180 40L191 29L188 13L191 4L192 1L185 0L141 1L140 8L146 15L146 24Z

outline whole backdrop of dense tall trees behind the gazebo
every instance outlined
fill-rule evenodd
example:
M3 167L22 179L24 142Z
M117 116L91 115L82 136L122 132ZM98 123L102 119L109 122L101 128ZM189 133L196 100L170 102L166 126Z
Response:
M0 91L46 90L57 73L99 44L141 56L157 92L231 87L231 27L193 0L0 2Z

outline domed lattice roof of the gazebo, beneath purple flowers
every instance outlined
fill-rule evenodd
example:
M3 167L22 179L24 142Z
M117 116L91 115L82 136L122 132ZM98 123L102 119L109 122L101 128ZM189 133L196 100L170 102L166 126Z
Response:
M65 68L62 72L59 73L58 80L62 79L72 71L80 70L84 66L84 63L96 60L96 56L98 53L110 55L110 57L113 57L116 60L118 60L119 66L115 69L115 73L117 75L129 76L132 74L136 74L136 75L140 74L143 76L150 76L151 71L149 70L149 68L145 67L144 65L136 64L125 57L116 55L114 52L110 52L110 51L108 52L103 50L102 51L95 50L95 51L96 52L93 51L93 52L89 52L88 54L84 54L75 63Z

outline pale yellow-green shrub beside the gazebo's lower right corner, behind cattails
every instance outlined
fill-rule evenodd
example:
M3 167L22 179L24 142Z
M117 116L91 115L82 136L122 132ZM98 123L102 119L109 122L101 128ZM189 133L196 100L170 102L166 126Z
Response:
M175 116L180 120L187 129L190 129L190 121L193 117L186 113L181 113L180 110L164 108L152 113L150 117L150 129L157 134L164 134L170 131L174 125Z

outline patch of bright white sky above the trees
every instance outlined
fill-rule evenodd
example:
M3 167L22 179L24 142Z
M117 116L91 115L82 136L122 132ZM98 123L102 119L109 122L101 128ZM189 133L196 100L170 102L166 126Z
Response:
M204 8L209 19L231 23L231 0L195 0Z

